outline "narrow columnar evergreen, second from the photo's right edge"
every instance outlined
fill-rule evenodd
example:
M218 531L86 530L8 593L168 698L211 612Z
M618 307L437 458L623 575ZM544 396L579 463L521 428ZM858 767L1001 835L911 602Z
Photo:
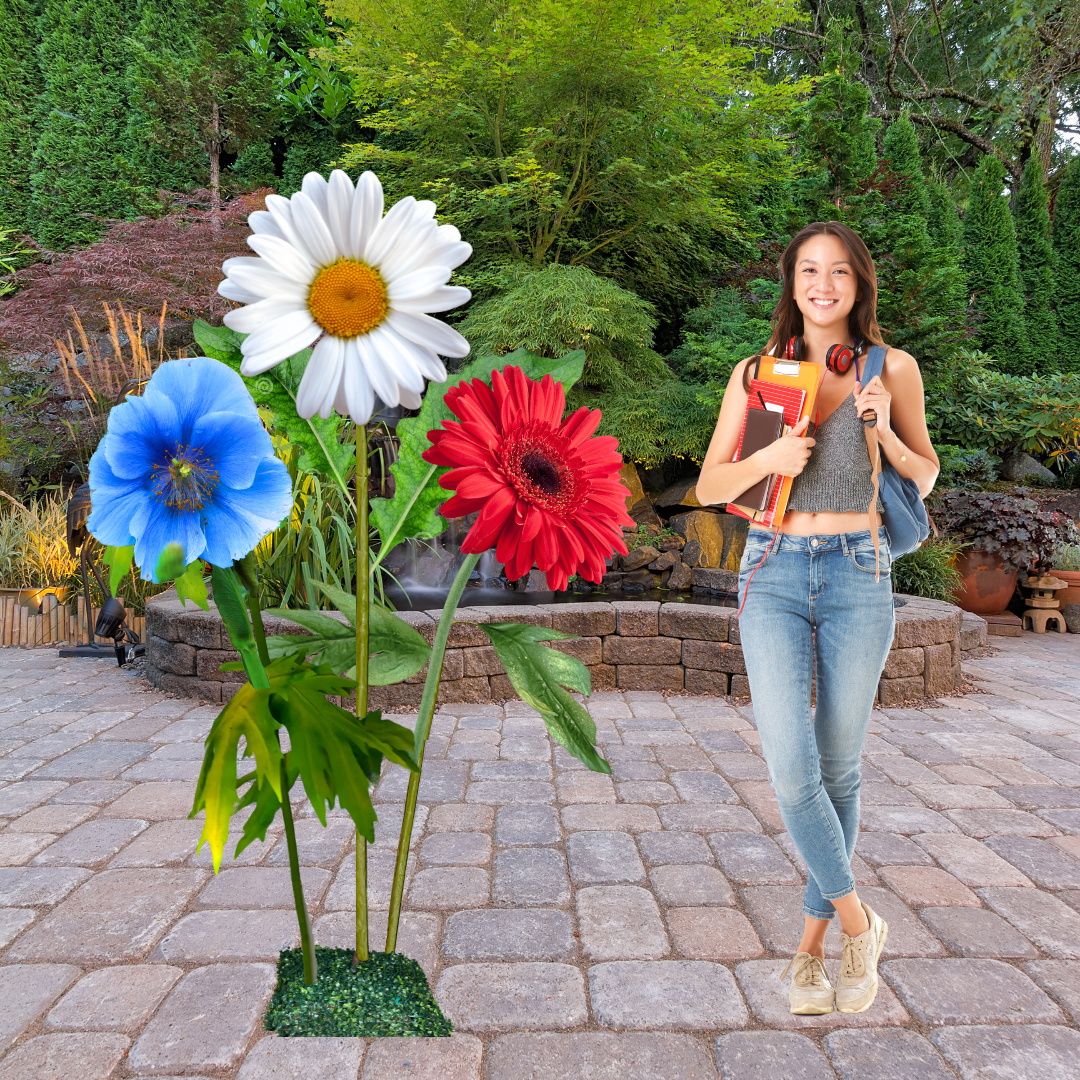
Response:
M1050 197L1037 153L1024 166L1015 217L1028 369L1054 372L1059 350L1053 301L1054 251L1050 243Z

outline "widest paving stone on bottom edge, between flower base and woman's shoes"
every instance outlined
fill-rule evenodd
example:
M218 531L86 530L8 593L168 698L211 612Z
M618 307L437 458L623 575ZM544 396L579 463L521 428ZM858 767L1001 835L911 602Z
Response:
M690 1035L578 1031L496 1038L487 1052L486 1080L526 1078L716 1080L716 1067L702 1043ZM373 1076L369 1080L382 1078Z

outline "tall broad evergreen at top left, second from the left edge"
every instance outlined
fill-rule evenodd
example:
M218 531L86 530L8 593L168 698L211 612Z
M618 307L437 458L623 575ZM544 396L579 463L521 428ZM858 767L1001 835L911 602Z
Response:
M28 225L46 247L97 240L134 206L127 144L126 21L120 0L45 0Z

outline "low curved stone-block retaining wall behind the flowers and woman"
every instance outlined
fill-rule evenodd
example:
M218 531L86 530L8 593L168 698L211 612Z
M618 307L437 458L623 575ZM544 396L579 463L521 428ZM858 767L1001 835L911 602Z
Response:
M986 645L986 623L951 604L901 597L896 635L878 686L883 705L949 693L960 685L960 654ZM401 611L430 642L441 609ZM450 631L438 700L483 702L513 698L510 679L480 629L483 622L523 622L577 635L553 643L592 673L594 690L686 690L746 696L750 684L732 608L653 600L462 607ZM237 654L217 610L189 605L173 592L147 604L149 671L162 690L228 701L244 677L218 669ZM302 633L293 623L267 620L268 634ZM418 705L423 672L407 683L373 687L374 707Z

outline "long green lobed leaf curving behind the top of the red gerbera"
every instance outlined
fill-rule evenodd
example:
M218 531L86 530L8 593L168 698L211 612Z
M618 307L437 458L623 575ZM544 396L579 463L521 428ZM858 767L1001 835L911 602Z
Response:
M448 470L428 464L420 455L431 445L428 432L454 419L444 401L450 387L470 379L490 382L492 372L515 366L531 379L550 375L569 391L581 378L584 365L585 354L580 349L559 360L548 360L518 349L505 356L480 356L446 382L432 382L424 394L420 415L397 424L401 447L397 460L390 467L394 474L394 497L372 500L372 522L382 539L381 550L388 552L405 539L430 539L446 528L446 518L438 513L438 508L453 492L438 486L438 477Z

